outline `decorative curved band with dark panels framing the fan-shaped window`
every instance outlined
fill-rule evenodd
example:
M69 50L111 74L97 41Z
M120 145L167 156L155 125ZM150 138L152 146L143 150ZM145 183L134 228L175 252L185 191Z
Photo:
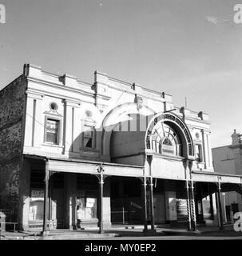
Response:
M192 136L188 130L188 126L184 123L184 121L179 118L176 114L157 114L150 122L148 126L148 130L146 131L146 149L151 149L151 136L153 135L153 128L157 125L158 122L173 122L177 128L180 130L181 134L183 134L183 137L186 141L187 146L187 156L190 159L194 158L194 149L193 149L193 142L192 142Z

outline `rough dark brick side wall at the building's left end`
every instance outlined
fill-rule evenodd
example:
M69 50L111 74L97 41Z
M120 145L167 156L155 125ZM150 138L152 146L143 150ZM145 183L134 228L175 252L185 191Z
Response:
M0 91L0 209L14 209L15 220L22 169L25 85L20 76Z

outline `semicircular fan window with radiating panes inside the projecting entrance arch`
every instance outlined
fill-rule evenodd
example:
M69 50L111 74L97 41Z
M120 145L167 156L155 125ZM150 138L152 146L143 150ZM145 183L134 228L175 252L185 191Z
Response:
M164 122L155 126L152 148L156 153L181 156L181 142L178 134Z

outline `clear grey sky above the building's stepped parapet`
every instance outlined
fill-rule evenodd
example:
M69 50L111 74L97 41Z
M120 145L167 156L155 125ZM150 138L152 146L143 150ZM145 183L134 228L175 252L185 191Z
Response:
M24 63L93 83L99 70L209 114L212 147L242 134L242 0L0 0L0 90Z

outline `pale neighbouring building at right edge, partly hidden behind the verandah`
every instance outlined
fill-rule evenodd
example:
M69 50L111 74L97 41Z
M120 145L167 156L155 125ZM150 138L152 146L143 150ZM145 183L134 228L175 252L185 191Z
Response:
M223 174L242 175L242 142L241 134L232 134L232 144L212 148L212 159L215 171ZM242 186L242 183L241 183ZM232 214L242 212L240 190L222 193L224 222L231 222ZM231 214L232 213L232 214Z

